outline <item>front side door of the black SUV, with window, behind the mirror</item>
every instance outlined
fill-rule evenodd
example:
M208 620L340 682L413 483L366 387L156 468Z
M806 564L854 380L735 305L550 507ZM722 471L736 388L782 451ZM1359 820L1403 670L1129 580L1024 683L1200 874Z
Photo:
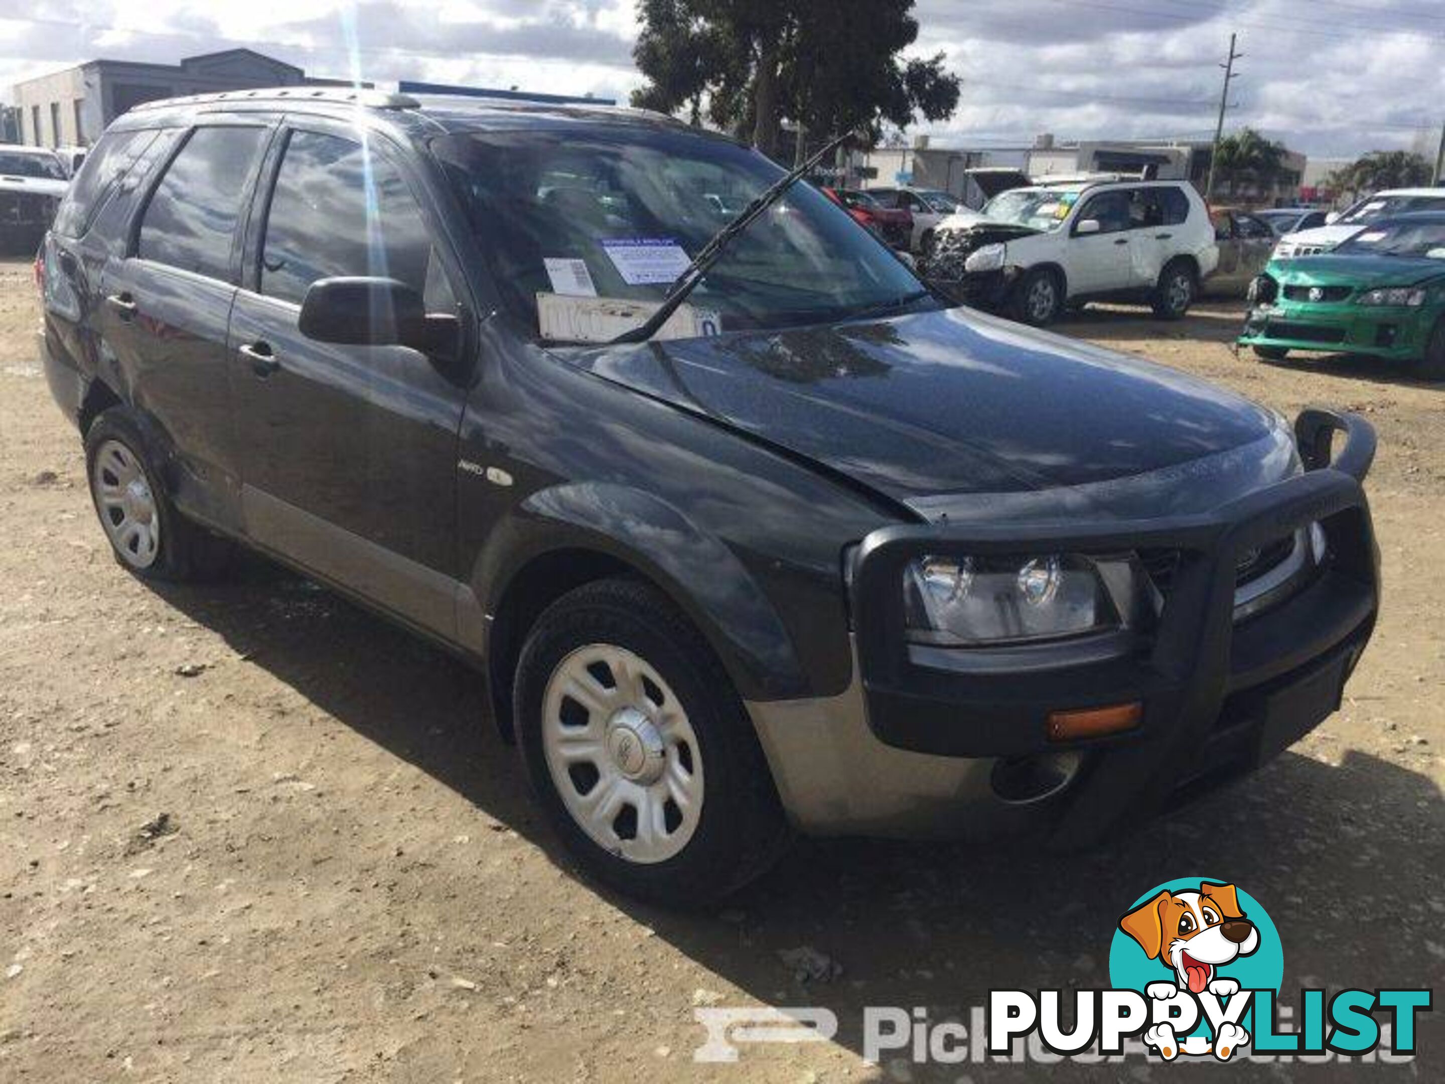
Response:
M400 279L431 311L457 312L428 220L376 136L292 129L270 173L230 327L247 532L451 635L464 389L416 350L316 343L298 328L306 289L332 276Z

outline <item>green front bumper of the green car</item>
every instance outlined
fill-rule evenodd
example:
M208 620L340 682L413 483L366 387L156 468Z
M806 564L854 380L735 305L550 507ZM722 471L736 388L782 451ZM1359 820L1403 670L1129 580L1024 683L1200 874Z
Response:
M1433 309L1276 302L1244 318L1240 345L1370 354L1412 360L1425 353Z

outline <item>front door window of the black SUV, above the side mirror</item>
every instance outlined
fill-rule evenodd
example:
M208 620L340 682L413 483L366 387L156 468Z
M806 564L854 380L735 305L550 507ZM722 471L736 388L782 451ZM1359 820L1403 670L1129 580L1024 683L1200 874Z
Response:
M301 304L316 279L399 279L432 311L455 305L400 172L351 139L293 132L262 243L260 292Z

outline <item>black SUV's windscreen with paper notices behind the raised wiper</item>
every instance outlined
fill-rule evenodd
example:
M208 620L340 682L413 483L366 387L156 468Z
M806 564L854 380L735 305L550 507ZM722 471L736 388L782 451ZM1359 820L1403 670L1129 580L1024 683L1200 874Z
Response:
M571 340L551 314L607 299L642 302L611 306L640 325L702 246L783 175L730 140L637 124L454 134L432 150L509 309L561 341ZM733 240L688 302L707 314L699 334L714 334L845 319L920 289L838 204L799 184Z

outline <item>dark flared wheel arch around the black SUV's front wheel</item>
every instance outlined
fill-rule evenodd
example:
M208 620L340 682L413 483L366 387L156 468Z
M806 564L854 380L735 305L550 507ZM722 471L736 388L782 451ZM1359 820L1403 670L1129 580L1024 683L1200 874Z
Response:
M698 629L744 700L811 687L788 627L743 562L673 506L626 486L532 494L490 532L473 572L497 726L512 728L512 678L532 623L568 591L629 575L662 591Z

